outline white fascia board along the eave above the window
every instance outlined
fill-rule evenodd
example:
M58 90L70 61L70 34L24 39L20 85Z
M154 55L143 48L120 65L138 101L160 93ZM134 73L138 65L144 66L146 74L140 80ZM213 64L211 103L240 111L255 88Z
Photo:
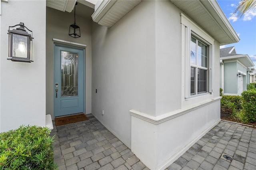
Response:
M226 32L226 35L232 40L233 43L239 42L240 38L236 34L236 31L226 18L225 14L221 10L218 2L216 0L200 0L202 4L206 7L206 9L210 12L210 14L214 17L216 22L222 27L222 29Z

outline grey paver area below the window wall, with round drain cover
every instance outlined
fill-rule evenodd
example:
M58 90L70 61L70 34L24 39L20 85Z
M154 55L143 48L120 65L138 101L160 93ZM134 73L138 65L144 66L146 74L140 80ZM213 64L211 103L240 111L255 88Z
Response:
M221 121L167 169L256 170L256 129Z

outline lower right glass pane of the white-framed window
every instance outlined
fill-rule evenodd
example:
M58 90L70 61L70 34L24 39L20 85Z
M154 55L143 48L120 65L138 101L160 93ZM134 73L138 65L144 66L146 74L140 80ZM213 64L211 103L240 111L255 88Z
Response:
M198 69L197 73L198 73L197 92L198 94L206 93L207 92L207 70Z

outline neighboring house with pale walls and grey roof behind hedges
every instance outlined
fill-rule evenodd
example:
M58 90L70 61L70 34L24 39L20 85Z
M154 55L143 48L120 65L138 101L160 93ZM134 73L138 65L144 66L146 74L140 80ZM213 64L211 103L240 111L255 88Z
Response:
M237 54L234 46L220 49L220 87L224 95L241 95L250 83L254 63L247 54Z

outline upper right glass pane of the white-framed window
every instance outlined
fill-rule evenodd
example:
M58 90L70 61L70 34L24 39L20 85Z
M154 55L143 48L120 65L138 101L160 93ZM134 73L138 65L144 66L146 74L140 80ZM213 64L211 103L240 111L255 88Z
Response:
M208 47L198 41L198 66L207 68Z

